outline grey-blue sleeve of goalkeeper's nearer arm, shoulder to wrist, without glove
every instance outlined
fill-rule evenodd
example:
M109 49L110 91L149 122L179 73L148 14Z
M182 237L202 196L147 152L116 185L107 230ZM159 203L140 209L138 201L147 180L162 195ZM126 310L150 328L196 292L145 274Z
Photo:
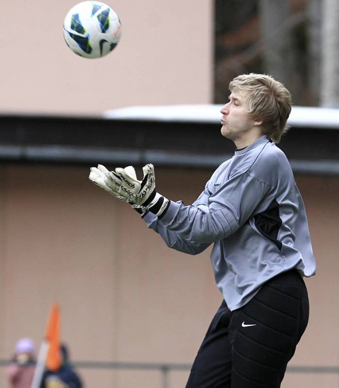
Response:
M216 242L236 232L253 215L271 187L250 173L235 174L210 196L209 212L170 202L160 222L184 239Z

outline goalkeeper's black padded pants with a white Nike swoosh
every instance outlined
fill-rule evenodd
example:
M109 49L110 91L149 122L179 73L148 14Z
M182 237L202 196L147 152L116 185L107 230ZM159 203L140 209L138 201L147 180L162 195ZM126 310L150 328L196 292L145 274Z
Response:
M302 277L277 275L245 306L225 301L203 340L186 388L278 388L308 322Z

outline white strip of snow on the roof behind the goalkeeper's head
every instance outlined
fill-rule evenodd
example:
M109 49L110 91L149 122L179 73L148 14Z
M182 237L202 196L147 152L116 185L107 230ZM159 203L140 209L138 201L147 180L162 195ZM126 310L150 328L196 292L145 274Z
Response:
M107 119L192 123L220 123L223 105L131 106L103 113ZM292 127L339 128L339 109L293 106L288 124Z

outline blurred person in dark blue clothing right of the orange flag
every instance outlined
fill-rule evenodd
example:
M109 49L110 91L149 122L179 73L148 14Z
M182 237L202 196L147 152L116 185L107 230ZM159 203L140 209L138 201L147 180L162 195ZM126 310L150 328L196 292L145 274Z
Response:
M68 350L63 344L60 347L62 365L56 372L46 370L42 376L40 388L82 388L79 375L69 362Z

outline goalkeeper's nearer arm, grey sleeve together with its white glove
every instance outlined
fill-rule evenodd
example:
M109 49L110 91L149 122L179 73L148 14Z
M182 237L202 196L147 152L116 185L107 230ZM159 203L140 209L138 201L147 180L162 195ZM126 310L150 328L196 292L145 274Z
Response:
M212 243L236 232L253 214L271 186L249 172L235 173L208 198L208 210L184 206L168 200L155 189L154 167L143 167L144 178L131 176L129 167L116 168L104 183L125 201L145 207L156 214L162 225L191 242Z

